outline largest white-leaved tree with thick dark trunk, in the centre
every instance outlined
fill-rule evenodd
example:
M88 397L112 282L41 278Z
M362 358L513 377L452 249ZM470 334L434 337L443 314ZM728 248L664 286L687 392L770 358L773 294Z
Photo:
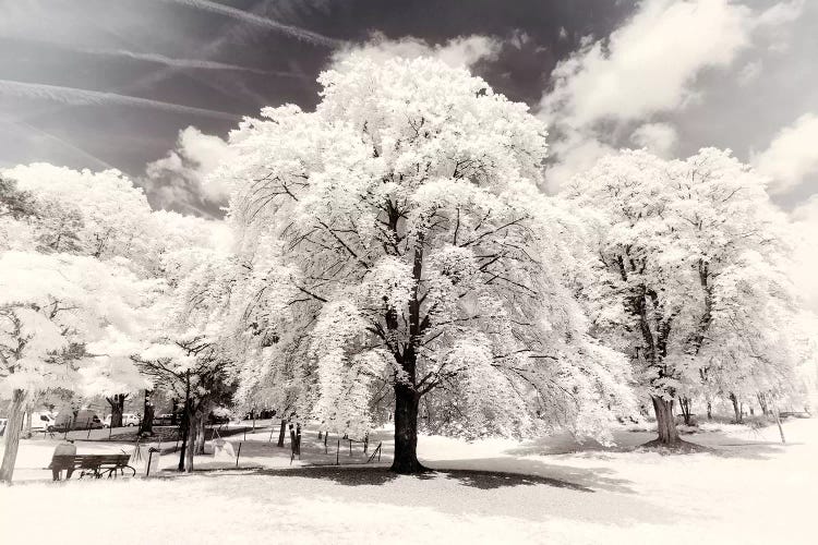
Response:
M422 470L419 404L435 396L471 435L600 432L626 365L563 286L542 123L428 59L352 57L320 82L315 112L245 120L217 173L255 288L244 329L274 339L269 364L297 368L338 431L365 426L387 386L400 473Z

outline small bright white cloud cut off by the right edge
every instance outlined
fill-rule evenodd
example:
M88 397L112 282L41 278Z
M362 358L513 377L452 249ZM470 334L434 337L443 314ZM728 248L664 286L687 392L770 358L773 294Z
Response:
M818 116L805 113L782 129L753 165L769 175L771 193L784 193L808 177L818 178Z

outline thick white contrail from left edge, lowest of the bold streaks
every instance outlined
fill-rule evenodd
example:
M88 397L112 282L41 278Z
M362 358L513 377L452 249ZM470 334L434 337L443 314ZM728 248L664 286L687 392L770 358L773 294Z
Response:
M43 83L23 83L9 80L0 80L0 94L23 98L44 98L47 100L53 100L56 102L75 106L113 104L121 106L155 108L166 111L177 111L180 113L192 113L195 116L206 116L208 118L229 119L231 121L234 121L237 118L239 118L239 116L227 113L224 111L207 110L204 108L194 108L192 106L163 102L160 100L151 100L149 98L117 95L116 93L79 89L76 87L63 87L60 85L46 85Z

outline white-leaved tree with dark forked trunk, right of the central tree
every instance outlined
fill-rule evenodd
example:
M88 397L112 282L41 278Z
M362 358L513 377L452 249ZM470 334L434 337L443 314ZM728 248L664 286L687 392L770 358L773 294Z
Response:
M587 296L598 300L598 330L630 355L661 444L679 440L678 397L689 412L697 393L787 384L797 305L785 220L763 179L713 148L674 161L628 150L566 194L597 233L599 275Z

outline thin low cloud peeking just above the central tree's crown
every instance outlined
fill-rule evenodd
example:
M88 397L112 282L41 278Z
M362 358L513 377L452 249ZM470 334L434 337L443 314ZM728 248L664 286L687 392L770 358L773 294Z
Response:
M366 44L352 45L336 51L333 61L337 63L357 53L377 60L393 57L405 59L435 57L450 66L471 66L480 60L496 59L501 48L501 41L478 35L454 38L444 45L431 45L412 37L392 40L375 33Z

